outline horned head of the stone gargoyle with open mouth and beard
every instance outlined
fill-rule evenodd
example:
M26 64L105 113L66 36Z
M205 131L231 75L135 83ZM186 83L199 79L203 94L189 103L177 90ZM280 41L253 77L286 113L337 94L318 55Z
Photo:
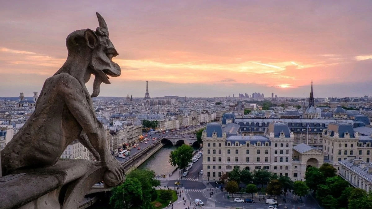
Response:
M90 59L87 70L94 75L91 97L98 96L101 83L110 84L108 75L118 77L121 74L120 66L112 61L119 54L109 39L107 24L99 13L96 15L99 23L96 31L77 30L66 39L68 56Z

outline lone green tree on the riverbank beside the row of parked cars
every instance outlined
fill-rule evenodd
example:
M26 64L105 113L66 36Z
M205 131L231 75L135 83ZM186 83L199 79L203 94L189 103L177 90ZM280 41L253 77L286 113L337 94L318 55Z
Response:
M194 149L189 145L183 144L176 150L171 151L169 155L169 163L172 166L177 166L179 169L185 169L191 162Z

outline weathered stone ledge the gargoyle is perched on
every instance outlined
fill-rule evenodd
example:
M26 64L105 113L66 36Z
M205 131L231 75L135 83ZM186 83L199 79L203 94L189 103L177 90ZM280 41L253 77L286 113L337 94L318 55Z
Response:
M42 208L51 208L52 205L55 208L56 204L60 206L57 208L77 208L85 192L102 180L105 168L94 163L89 160L61 159L51 167L17 170L14 174L25 174L11 180L5 181L9 175L1 177L0 208L19 208L32 202L32 207L25 208L39 208L40 201L35 200L48 193L51 194L47 199L53 200L48 206L44 198Z

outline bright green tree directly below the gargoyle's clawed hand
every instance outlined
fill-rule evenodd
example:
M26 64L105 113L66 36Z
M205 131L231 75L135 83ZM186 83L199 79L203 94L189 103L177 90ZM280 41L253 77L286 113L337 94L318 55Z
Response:
M135 178L126 178L124 183L111 189L109 204L114 209L128 209L132 204L142 202L141 182Z

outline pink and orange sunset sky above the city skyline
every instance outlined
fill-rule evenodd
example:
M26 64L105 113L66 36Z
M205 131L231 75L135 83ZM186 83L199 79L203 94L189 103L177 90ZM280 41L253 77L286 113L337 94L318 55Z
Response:
M40 92L95 12L122 69L100 96L372 95L371 0L19 2L0 3L0 96Z

